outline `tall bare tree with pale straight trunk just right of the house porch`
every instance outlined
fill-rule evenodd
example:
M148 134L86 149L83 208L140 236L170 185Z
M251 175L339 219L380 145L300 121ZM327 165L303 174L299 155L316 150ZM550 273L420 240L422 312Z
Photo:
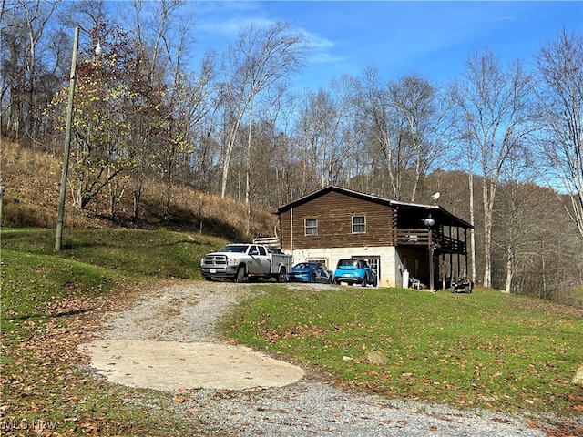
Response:
M516 61L507 69L485 50L468 56L464 80L455 86L455 103L467 124L467 140L477 149L483 177L484 285L492 285L492 226L496 188L508 158L532 132L529 120L531 77ZM465 144L461 144L465 147Z

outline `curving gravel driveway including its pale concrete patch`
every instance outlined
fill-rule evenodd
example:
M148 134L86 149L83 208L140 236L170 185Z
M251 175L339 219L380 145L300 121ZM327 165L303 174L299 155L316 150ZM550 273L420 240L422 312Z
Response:
M217 320L248 297L251 287L227 282L154 290L134 308L112 314L101 338L80 349L111 382L173 393L174 411L211 435L547 435L503 413L344 392L308 369L220 343Z

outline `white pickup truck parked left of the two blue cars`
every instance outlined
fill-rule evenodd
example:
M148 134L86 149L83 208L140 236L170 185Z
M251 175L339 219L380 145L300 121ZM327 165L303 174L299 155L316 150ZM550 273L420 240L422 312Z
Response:
M292 271L292 255L259 244L228 244L202 257L200 270L207 280L230 278L241 282L245 278L275 278L285 282Z

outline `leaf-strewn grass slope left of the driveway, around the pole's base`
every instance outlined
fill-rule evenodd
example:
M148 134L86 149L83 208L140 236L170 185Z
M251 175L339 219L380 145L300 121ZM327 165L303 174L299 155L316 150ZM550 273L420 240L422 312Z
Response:
M199 259L223 241L169 231L3 229L2 435L197 435L176 403L95 379L77 344L107 310L162 281L200 279ZM141 404L158 405L156 408Z

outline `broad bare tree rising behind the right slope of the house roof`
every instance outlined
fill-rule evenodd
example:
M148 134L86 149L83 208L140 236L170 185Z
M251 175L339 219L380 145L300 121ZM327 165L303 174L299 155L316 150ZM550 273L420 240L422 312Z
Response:
M416 73L386 85L378 69L364 70L360 107L369 141L380 152L393 198L415 201L419 184L444 153L447 113L438 88Z

